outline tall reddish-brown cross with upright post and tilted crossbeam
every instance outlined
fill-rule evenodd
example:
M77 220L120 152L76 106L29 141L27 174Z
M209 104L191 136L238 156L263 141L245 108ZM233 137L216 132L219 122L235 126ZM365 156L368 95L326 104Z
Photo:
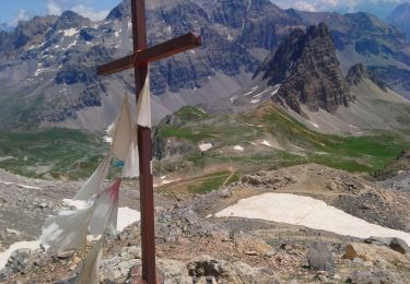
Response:
M108 75L134 68L136 100L144 85L148 64L166 57L201 46L199 34L188 33L166 43L148 47L144 0L131 0L133 54L110 63L99 66L98 74ZM138 126L138 146L140 153L140 209L141 209L141 250L142 281L156 283L154 194L151 169L151 129Z

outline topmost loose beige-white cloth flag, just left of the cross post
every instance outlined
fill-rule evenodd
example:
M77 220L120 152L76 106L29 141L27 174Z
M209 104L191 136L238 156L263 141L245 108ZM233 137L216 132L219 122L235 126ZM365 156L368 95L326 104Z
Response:
M134 131L132 131L132 118L129 108L128 96L124 96L121 113L116 118L113 129L108 135L112 138L112 152L115 157L125 161L128 156L129 145L131 144Z

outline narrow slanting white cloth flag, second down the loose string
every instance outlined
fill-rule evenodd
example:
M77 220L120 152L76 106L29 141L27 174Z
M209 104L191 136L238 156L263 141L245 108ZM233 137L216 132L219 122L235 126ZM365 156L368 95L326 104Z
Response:
M109 162L112 161L112 152L108 152L103 162L98 165L94 174L85 181L82 188L77 192L73 199L89 200L95 193L102 190L103 181L108 174Z

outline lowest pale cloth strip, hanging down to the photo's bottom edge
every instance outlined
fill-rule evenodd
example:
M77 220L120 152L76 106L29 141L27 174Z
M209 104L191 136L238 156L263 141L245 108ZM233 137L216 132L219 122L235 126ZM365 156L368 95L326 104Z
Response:
M75 280L77 284L99 284L98 270L103 257L104 240L105 236L103 235L86 255Z

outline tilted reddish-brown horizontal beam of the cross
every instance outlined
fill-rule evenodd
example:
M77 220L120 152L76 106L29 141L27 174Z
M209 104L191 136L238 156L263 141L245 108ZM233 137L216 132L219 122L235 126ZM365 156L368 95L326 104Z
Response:
M136 61L149 63L201 46L201 35L188 33L163 44L139 50L97 68L98 75L109 75L134 67Z

